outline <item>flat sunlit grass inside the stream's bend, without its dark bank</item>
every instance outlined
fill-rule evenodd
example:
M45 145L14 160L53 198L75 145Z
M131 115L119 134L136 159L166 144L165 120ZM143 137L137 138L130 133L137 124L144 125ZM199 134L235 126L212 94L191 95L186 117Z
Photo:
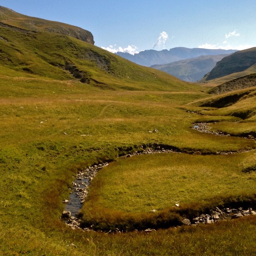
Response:
M256 176L242 174L246 154L156 154L119 159L104 168L92 182L92 207L149 212L152 209L202 203L214 197L255 192ZM253 153L255 155L255 153ZM88 203L90 204L90 197Z

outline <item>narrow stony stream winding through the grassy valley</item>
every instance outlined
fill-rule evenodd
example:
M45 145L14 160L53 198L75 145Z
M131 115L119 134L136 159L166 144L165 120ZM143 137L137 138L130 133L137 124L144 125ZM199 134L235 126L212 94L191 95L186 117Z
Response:
M193 123L192 129L198 130L199 132L205 132L205 133L212 133L214 135L218 136L230 136L230 134L224 134L222 132L213 132L210 131L208 128L208 123ZM250 138L255 139L255 138ZM240 150L239 152L249 152L251 150ZM121 158L127 158L132 157L134 155L143 155L143 154L160 154L160 153L181 153L177 150L172 149L165 149L160 148L160 146L157 147L157 149L152 148L146 148L144 151L138 153L136 151L135 153L128 154L126 156L121 156ZM218 152L217 154L234 154L238 153L238 151L230 151L230 152ZM80 228L80 219L76 217L78 213L80 212L82 208L82 203L84 202L87 194L88 194L88 187L91 183L91 180L96 176L97 172L101 170L103 167L107 166L108 163L102 163L90 166L82 171L80 171L76 176L75 180L72 182L73 188L70 189L70 196L69 200L65 199L63 203L66 204L65 211L63 211L62 218L65 220L66 224L69 225L72 229ZM68 217L67 217L68 213ZM251 208L248 208L246 210L243 210L242 208L239 209L219 209L216 207L215 210L212 210L212 213L209 214L201 214L197 218L194 218L192 220L192 223L190 223L190 220L187 220L190 224L199 224L199 223L214 223L218 220L223 219L231 219L231 218L238 218L246 215L253 214L255 215L256 212L252 210ZM235 216L235 217L233 217ZM184 224L187 224L186 221ZM187 224L187 225L190 225ZM85 229L89 230L89 229Z

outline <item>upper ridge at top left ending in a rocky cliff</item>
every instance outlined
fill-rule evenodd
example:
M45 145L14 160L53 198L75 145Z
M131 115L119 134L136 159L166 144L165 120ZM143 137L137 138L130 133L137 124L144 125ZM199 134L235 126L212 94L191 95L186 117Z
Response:
M3 6L0 6L0 26L12 27L12 29L16 27L31 31L60 33L94 44L94 38L90 31L57 21L48 21L41 18L19 14Z

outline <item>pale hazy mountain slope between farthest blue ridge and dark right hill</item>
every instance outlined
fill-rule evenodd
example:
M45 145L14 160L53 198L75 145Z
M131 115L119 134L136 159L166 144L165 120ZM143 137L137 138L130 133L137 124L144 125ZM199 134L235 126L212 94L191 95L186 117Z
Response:
M174 75L183 81L196 82L209 73L216 63L226 56L228 54L200 56L163 65L153 65L151 67Z

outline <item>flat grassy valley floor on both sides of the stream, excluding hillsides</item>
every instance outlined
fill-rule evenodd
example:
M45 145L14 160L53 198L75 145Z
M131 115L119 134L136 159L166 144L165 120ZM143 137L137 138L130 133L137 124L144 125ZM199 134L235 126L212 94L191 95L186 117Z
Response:
M12 78L12 82L15 79ZM34 85L40 87L41 81ZM25 85L17 86L17 90L22 86ZM63 91L57 90L60 86ZM245 247L255 252L251 246L253 217L247 221L158 230L149 234L105 235L67 228L60 221L60 213L73 175L96 162L116 159L117 148L159 143L191 153L200 150L209 154L253 149L255 142L214 137L192 130L193 122L211 119L220 121L214 124L219 128L222 124L232 126L235 121L246 126L238 117L204 117L186 112L191 106L184 104L205 98L203 93L110 92L94 87L81 93L80 82L57 81L50 81L49 87L31 90L33 96L28 96L26 91L26 96L2 96L0 100L3 255L81 255L81 251L82 255L200 255L206 252L208 255L232 255L248 252ZM15 94L12 87L9 88L10 92L5 89L6 95ZM66 92L71 88L74 93ZM50 94L51 90L55 94ZM46 94L39 97L42 91ZM154 128L159 132L148 132ZM254 126L248 126L249 131L253 129ZM100 210L105 209L100 213L111 214L112 211L122 217L124 213L134 212L140 218L151 209L170 209L176 201L181 201L187 209L200 210L205 202L212 202L219 194L224 196L222 199L250 197L255 193L255 175L242 172L239 163L253 165L253 155L254 151L228 156L159 154L118 160L102 171L92 185L93 191L97 180L108 180L107 186L102 184L101 190L97 190L98 198L106 197L105 203L102 199L94 201L90 196L90 206L86 208L86 203L84 210L99 209L100 204ZM246 159L249 160L246 162ZM222 236L219 236L220 230ZM242 243L234 245L235 240L229 240L231 230L235 240ZM248 239L240 240L239 233ZM187 239L190 242L185 245L182 240ZM72 243L77 247L66 247Z

